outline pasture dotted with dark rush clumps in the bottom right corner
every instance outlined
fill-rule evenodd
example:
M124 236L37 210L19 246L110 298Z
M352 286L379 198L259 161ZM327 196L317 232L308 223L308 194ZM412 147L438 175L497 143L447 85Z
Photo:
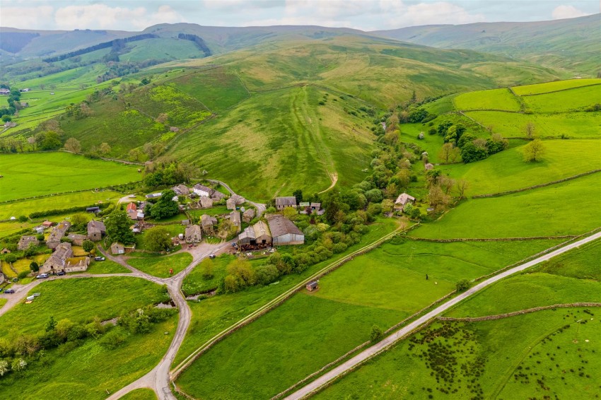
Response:
M578 326L578 319L590 317L584 310L547 310L471 323L434 322L337 380L315 399L532 398L549 393L536 384L537 379L544 384L558 382L560 398L579 394L590 398L601 382L595 374L600 359L593 354L599 344L595 341L588 347L586 343L584 348L582 341L597 337L599 323L595 318ZM580 343L573 343L577 331ZM539 346L544 346L544 352ZM590 377L578 377L582 371L583 377ZM559 383L564 382L562 376L571 384ZM530 384L522 385L519 396L501 392L526 381Z

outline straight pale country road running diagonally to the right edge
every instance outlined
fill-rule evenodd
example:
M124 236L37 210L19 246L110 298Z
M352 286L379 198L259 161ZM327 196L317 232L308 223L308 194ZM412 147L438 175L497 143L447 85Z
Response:
M298 389L293 394L287 396L285 398L285 400L298 400L298 399L303 399L307 396L310 396L310 394L317 391L317 389L320 389L320 387L322 387L323 385L336 379L340 375L343 375L346 372L349 372L349 370L351 370L352 368L356 367L357 365L363 363L363 361L368 360L369 358L380 353L381 351L384 351L386 348L388 348L389 346L392 346L392 344L394 344L399 339L402 339L405 336L411 334L412 331L414 331L415 329L426 324L426 322L430 321L434 317L438 316L438 314L445 312L446 310L448 310L450 307L453 307L453 305L456 305L461 300L464 300L466 298L469 298L469 296L474 295L474 293L478 293L480 290L486 288L486 286L489 286L492 283L500 281L501 279L506 278L507 276L510 276L513 273L524 271L525 269L535 266L536 264L539 264L542 261L547 261L548 259L552 259L553 257L556 257L559 254L563 254L565 252L568 252L571 249L580 247L581 245L585 245L585 243L592 242L593 240L599 239L600 237L601 237L601 232L595 233L594 235L590 235L588 237L585 237L584 239L578 240L578 242L573 242L570 245L561 247L560 249L556 249L553 252L550 252L548 254L544 254L541 257L538 257L537 259L533 259L532 261L528 261L525 264L515 266L512 269L508 269L505 272L499 273L496 276L486 279L486 281L483 281L482 283L477 284L473 288L470 288L469 290L465 291L465 293L461 293L460 295L453 298L452 300L449 300L448 302L445 302L443 305L436 307L436 309L432 310L431 312L428 312L423 317L416 319L414 322L412 322L411 324L408 324L406 327L400 329L399 331L395 332L394 334L391 334L390 336L387 336L387 338L376 343L375 345L371 346L370 348L367 348L366 350L362 351L358 355L355 355L353 358L347 360L346 362L342 363L338 367L335 367L333 370L325 373L324 375L317 378L315 381L311 382L310 384L306 385L305 387Z

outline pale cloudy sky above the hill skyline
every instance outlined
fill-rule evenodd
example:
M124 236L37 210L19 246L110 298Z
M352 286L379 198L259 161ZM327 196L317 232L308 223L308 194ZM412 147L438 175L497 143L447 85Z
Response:
M0 0L0 26L143 30L157 23L322 25L381 30L533 21L600 12L600 0Z

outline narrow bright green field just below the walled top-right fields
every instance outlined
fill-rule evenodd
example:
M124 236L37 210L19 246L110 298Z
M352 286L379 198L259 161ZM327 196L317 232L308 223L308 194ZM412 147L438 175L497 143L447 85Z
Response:
M525 138L525 127L532 122L535 135L541 138L601 139L601 112L566 112L562 114L518 114L498 111L468 111L484 127L507 138Z

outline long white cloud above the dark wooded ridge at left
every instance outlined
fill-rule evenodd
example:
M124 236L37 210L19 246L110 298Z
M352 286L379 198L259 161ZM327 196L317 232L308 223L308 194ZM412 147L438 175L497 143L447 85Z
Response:
M106 4L66 6L54 13L54 22L59 29L144 29L157 23L184 22L170 6L159 6L150 12L144 7L110 7Z

